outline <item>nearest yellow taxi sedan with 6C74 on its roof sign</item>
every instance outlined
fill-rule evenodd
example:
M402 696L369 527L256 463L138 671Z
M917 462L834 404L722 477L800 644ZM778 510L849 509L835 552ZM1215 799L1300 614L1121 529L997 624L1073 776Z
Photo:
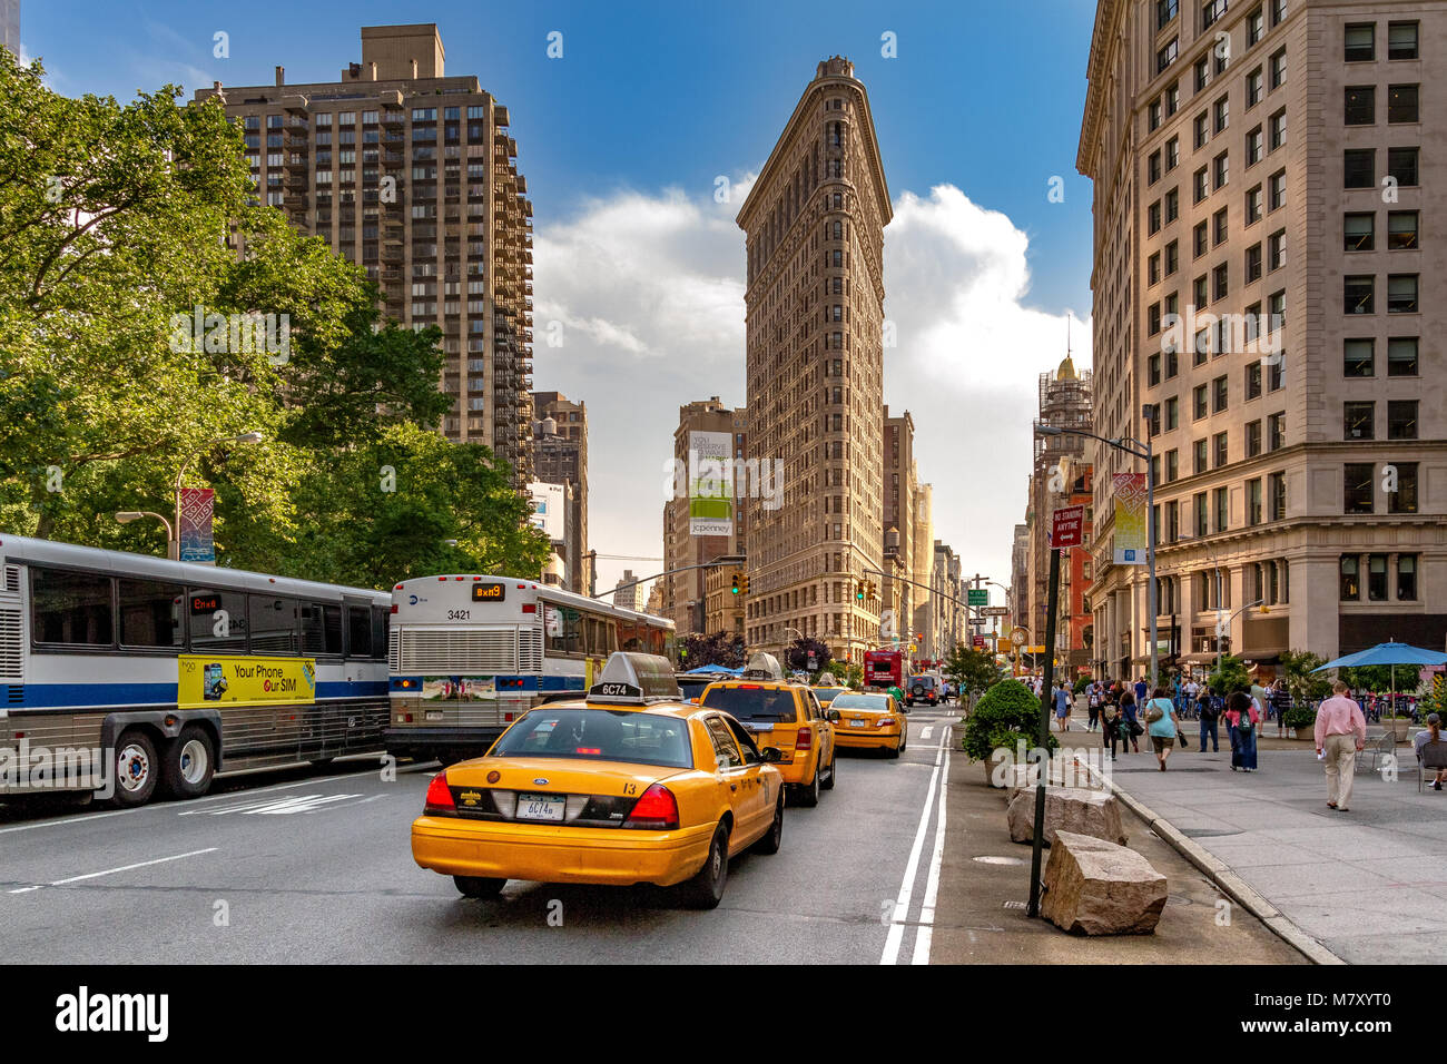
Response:
M655 883L712 909L729 858L778 851L777 757L680 701L666 657L615 653L586 699L532 708L485 757L433 777L412 860L467 898L509 879Z

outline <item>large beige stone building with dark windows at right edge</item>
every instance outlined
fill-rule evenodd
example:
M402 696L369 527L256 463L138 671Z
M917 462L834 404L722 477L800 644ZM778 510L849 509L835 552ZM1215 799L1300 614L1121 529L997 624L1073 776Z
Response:
M1095 430L1152 444L1160 651L1441 650L1447 3L1101 0L1088 80ZM1145 463L1092 459L1095 663L1139 673Z

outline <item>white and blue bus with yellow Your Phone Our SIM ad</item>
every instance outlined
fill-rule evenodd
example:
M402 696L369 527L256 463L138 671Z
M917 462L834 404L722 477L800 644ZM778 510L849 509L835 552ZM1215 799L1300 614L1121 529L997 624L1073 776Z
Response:
M0 798L382 750L391 596L0 534Z

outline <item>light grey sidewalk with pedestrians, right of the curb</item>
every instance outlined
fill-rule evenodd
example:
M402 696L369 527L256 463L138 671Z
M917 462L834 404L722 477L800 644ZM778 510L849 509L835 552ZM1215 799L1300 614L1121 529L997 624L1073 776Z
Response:
M1113 782L1217 858L1310 938L1353 964L1440 964L1447 932L1447 790L1417 793L1417 760L1399 746L1398 779L1356 774L1351 811L1327 808L1327 780L1308 741L1257 751L1233 773L1229 741L1171 754L1121 754ZM1100 743L1071 721L1071 747ZM1294 747L1294 748L1283 748Z

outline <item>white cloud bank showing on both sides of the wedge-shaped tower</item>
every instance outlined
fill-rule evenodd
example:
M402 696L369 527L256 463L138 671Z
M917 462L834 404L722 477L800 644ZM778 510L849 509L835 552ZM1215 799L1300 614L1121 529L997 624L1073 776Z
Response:
M716 203L621 191L544 226L535 246L534 387L587 402L589 539L599 553L658 556L663 463L677 408L744 401L744 233L734 223L754 174ZM1010 579L1023 520L1036 375L1065 353L1065 317L1030 308L1029 237L952 185L903 193L884 232L884 397L915 418L922 481L933 484L935 537L969 573ZM563 346L547 346L548 323ZM1088 365L1088 324L1074 329ZM599 563L599 588L624 567Z

